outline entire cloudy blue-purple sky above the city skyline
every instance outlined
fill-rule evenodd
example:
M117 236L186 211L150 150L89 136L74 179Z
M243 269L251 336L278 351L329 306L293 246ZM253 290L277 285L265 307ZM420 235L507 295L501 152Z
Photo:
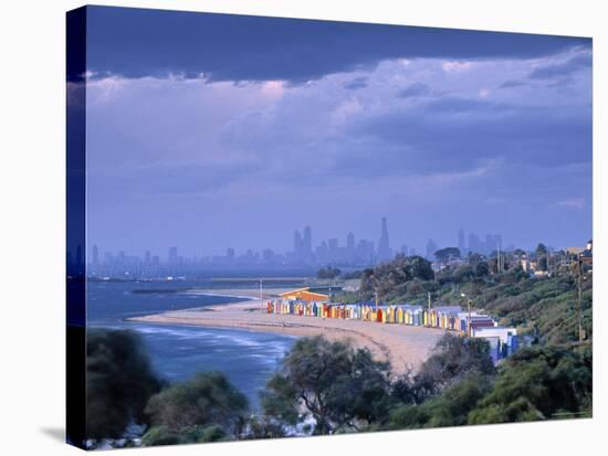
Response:
M87 234L163 256L347 232L591 237L591 40L88 7Z

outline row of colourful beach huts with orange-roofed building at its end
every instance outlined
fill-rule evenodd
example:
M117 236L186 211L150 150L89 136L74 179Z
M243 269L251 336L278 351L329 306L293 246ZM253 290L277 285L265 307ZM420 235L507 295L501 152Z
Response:
M287 291L266 303L269 314L302 317L339 318L376 324L408 325L454 331L461 336L481 337L490 343L494 362L517 350L515 328L505 328L490 316L463 311L460 306L427 307L415 304L376 305L375 303L331 303L327 295L308 288Z

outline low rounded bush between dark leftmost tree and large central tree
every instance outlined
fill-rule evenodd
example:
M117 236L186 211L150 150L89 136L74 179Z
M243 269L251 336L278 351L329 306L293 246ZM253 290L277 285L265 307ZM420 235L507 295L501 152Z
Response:
M220 372L205 372L190 381L177 383L154 395L146 407L153 427L150 433L190 433L189 442L199 442L218 435L210 427L221 428L222 435L239 434L245 421L247 397ZM211 433L211 434L210 434ZM211 436L210 436L211 435ZM207 436L207 437L206 437Z

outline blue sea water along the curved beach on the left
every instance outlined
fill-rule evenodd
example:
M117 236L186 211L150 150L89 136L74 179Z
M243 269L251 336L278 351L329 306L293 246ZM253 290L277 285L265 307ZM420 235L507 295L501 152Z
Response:
M259 391L276 370L294 338L233 329L124 321L127 317L163 310L239 300L206 295L213 293L213 286L208 282L186 280L88 283L87 322L90 327L129 328L139 332L154 369L171 382L187 380L200 371L223 372L256 407ZM234 287L231 285L230 288Z

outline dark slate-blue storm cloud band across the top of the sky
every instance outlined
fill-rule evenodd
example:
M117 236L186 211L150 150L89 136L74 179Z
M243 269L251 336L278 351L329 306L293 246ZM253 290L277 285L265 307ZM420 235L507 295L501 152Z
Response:
M88 70L125 77L285 79L388 59L531 59L589 39L232 14L87 7Z

